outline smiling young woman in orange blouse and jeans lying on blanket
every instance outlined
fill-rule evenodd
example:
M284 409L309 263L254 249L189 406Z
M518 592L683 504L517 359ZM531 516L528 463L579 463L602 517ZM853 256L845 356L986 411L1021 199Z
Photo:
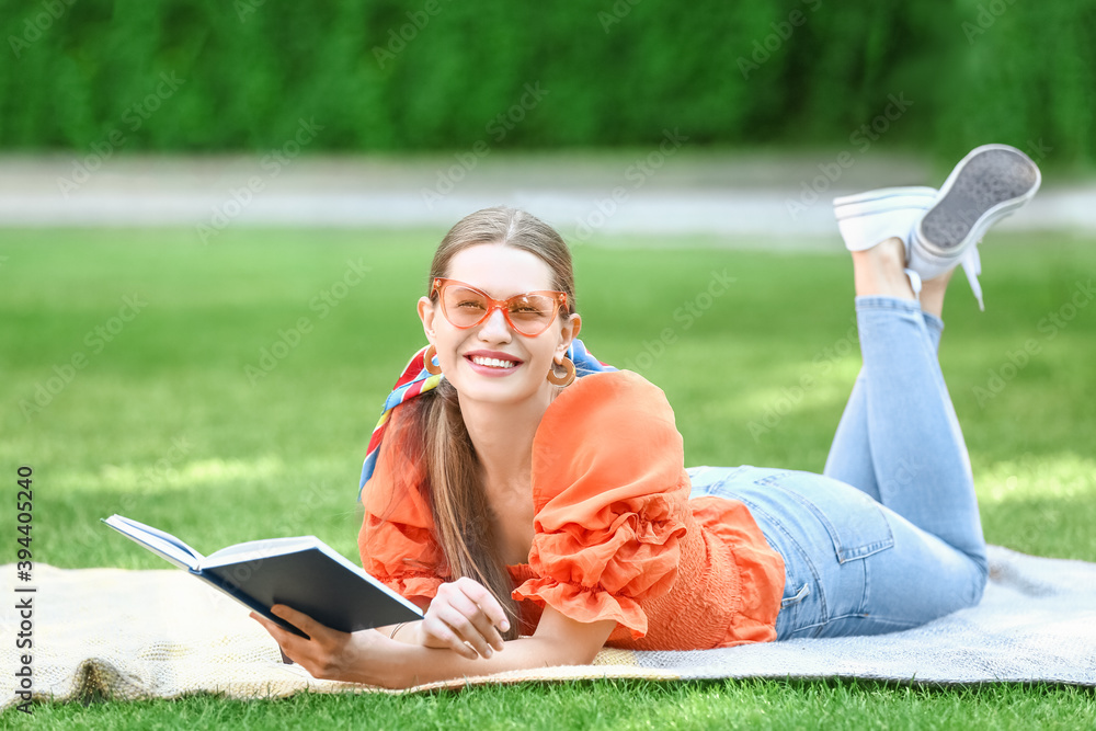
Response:
M468 216L434 256L430 346L363 470L363 564L425 618L343 633L276 606L306 639L252 616L316 677L407 687L589 663L606 643L888 632L975 604L984 541L940 312L951 270L974 284L981 236L1038 185L1026 156L985 146L939 192L835 202L864 366L824 476L686 470L662 391L576 339L559 235L518 210Z

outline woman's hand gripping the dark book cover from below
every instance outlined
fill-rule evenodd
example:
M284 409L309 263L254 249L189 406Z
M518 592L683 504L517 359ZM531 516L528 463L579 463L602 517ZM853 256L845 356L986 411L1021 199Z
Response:
M370 678L363 677L363 673L369 666L366 660L376 632L373 630L340 632L284 604L275 604L271 607L271 614L285 619L308 637L294 635L254 612L251 613L251 617L266 628L281 646L282 652L307 670L312 677L327 681L370 682Z

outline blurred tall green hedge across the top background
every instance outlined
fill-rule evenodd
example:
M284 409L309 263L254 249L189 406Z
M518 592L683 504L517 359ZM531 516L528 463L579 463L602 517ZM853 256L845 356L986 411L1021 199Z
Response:
M13 150L262 150L305 119L322 127L317 150L642 146L680 128L730 146L856 148L878 134L947 157L986 139L1094 155L1096 0L0 10L0 146Z

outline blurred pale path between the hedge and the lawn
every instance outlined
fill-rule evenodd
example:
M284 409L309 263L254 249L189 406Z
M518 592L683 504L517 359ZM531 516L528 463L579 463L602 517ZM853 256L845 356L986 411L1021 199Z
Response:
M0 158L0 227L448 228L491 205L528 209L572 243L601 236L711 236L715 244L830 247L831 202L884 185L938 186L912 157L719 153L658 148L411 156ZM94 169L92 169L94 168ZM1096 231L1096 182L1043 187L1013 230Z

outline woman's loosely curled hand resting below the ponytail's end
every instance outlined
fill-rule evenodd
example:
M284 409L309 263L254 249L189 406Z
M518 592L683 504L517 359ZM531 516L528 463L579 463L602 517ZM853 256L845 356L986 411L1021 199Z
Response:
M505 646L500 631L509 629L499 601L483 584L468 578L438 586L419 627L425 647L448 648L469 660L501 651Z

